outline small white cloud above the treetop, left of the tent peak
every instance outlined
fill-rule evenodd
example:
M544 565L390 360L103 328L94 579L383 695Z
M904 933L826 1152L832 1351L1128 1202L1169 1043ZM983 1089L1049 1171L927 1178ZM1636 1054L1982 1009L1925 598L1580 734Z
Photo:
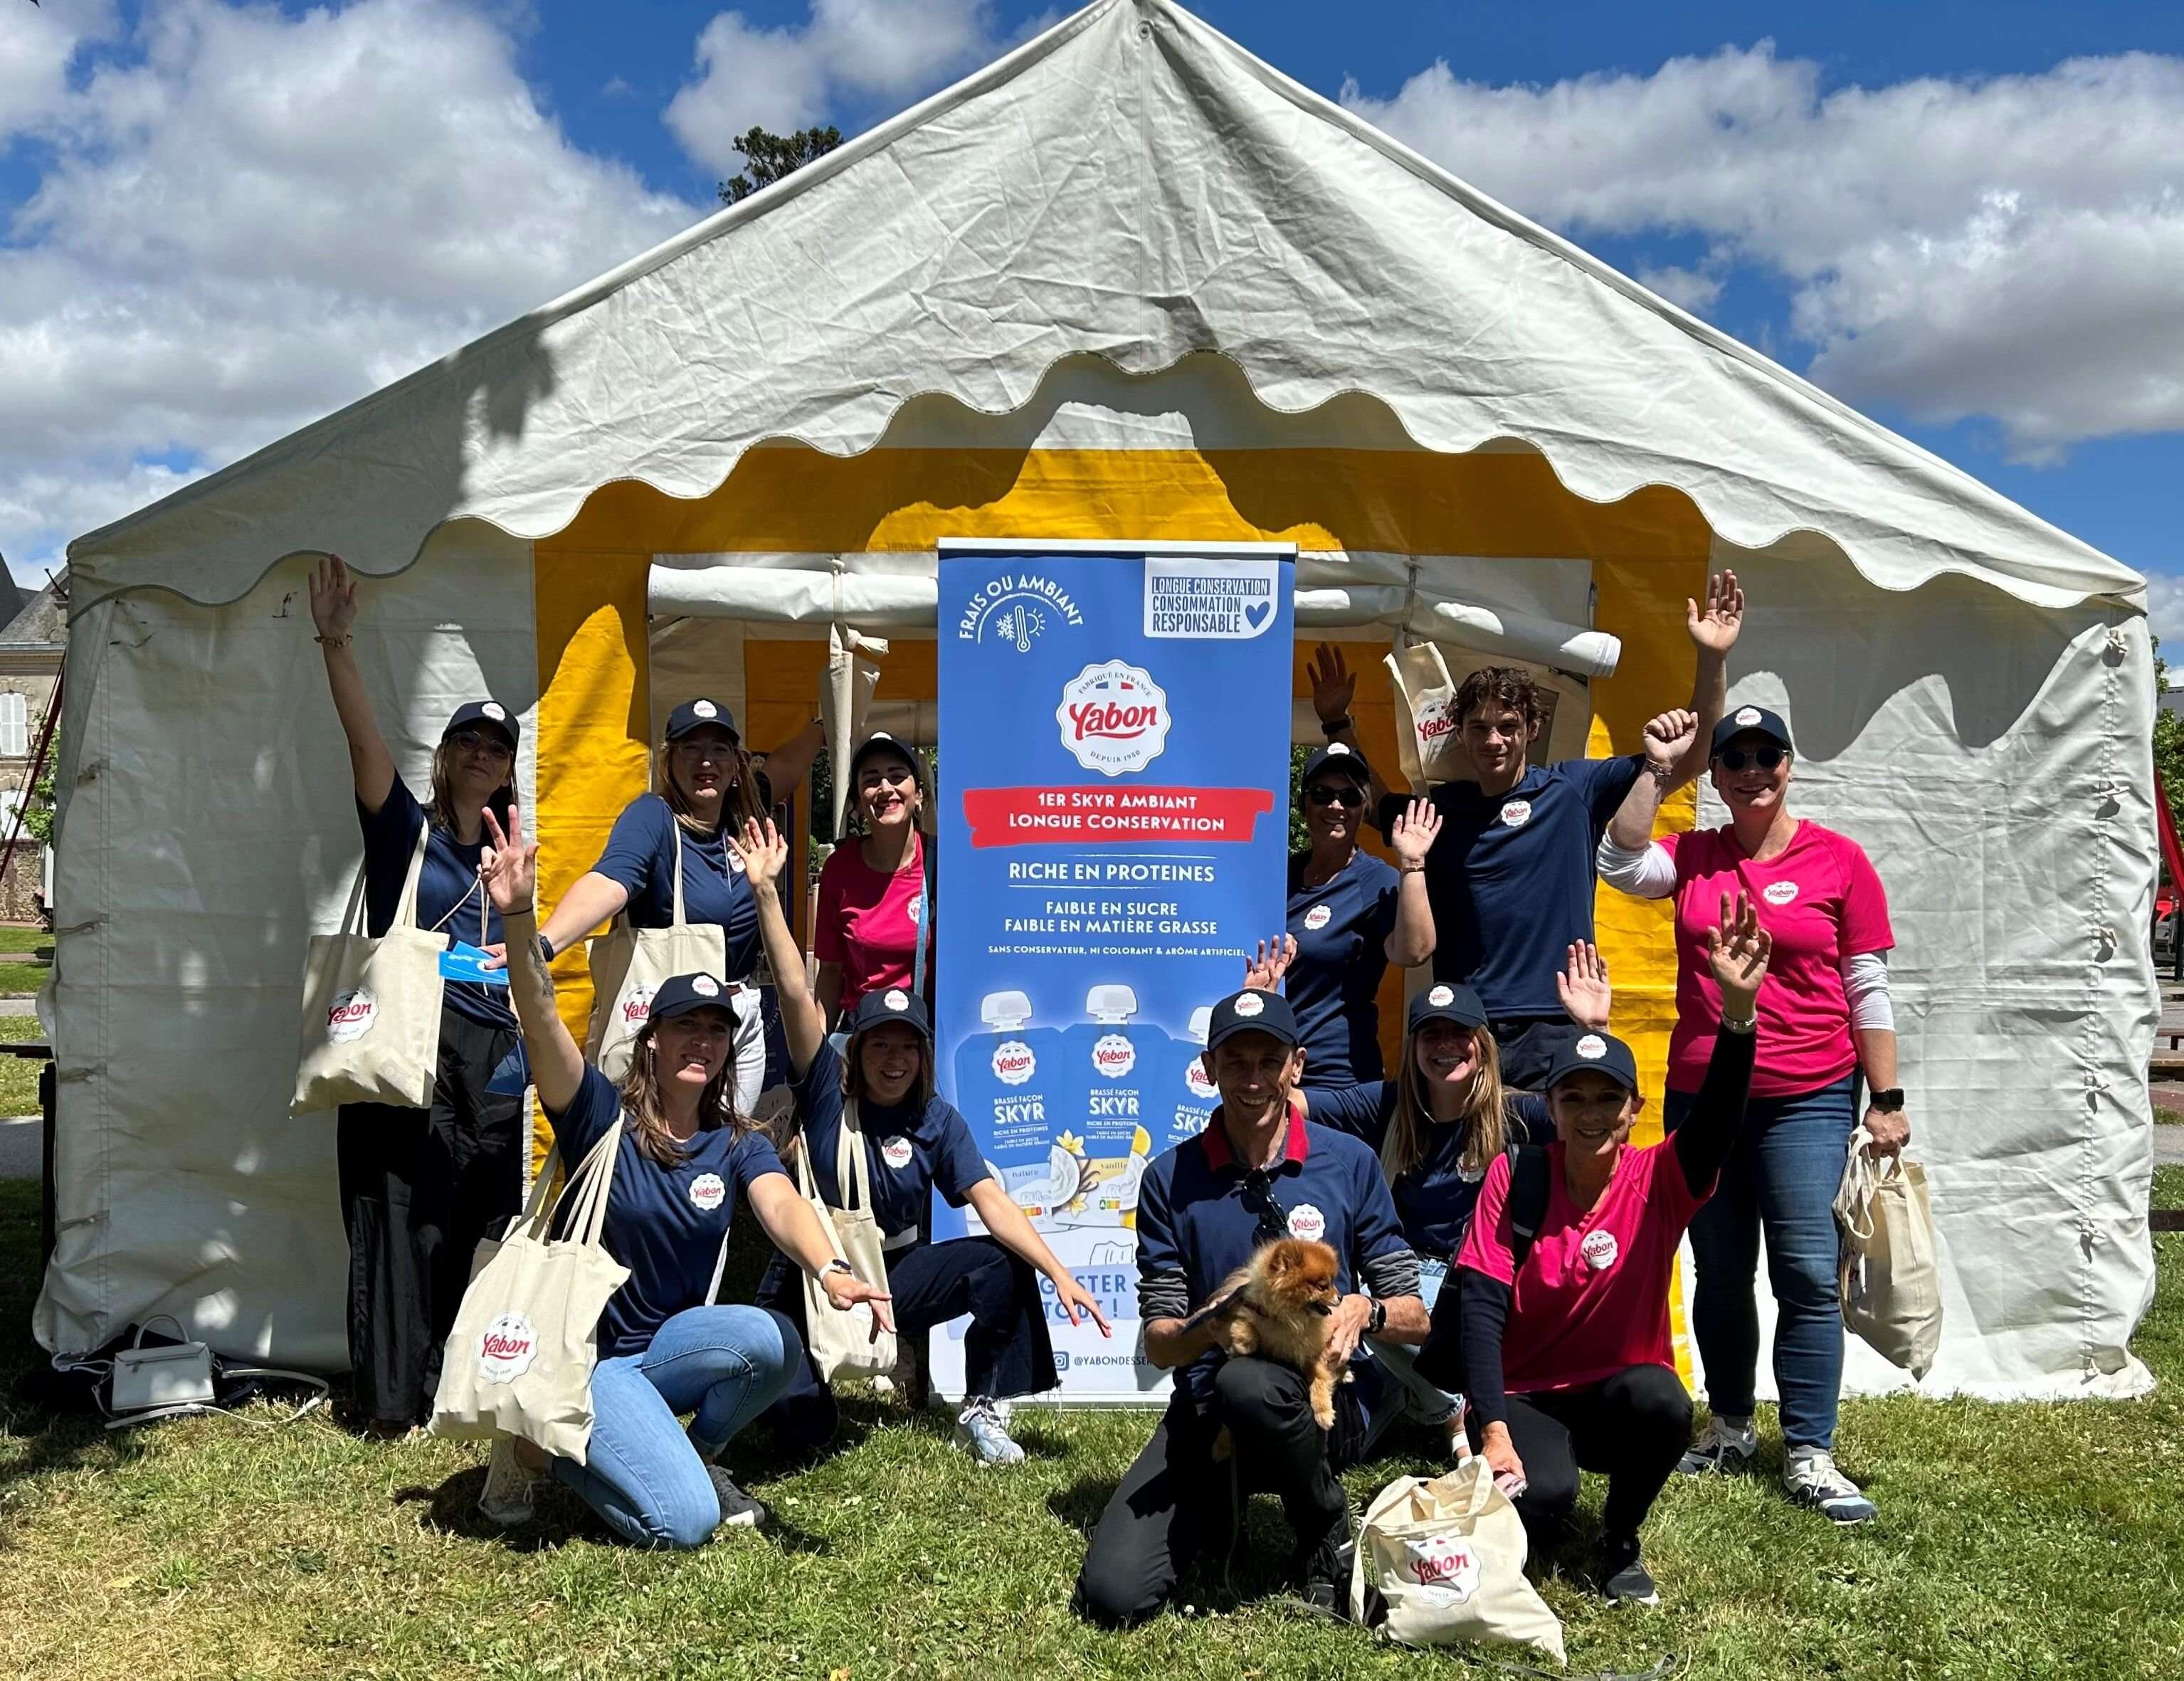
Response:
M743 170L736 135L823 122L845 98L906 103L976 70L1009 41L989 0L812 0L799 28L723 11L697 37L697 79L666 109L699 164Z

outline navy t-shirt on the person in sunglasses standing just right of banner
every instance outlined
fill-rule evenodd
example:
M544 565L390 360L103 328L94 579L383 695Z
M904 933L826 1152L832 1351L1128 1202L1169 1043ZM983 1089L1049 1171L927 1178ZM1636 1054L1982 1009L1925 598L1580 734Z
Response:
M1282 982L1297 1013L1304 1083L1319 1089L1376 1081L1380 1006L1374 998L1387 974L1402 875L1361 849L1332 882L1304 886L1308 860L1308 851L1289 860L1289 932L1297 937L1297 956Z

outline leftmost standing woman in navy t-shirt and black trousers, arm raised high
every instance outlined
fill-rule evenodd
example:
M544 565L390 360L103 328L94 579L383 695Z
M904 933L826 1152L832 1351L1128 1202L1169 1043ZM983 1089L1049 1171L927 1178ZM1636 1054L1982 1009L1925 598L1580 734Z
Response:
M334 712L349 740L365 832L367 932L393 921L417 834L417 923L500 950L500 917L478 886L487 808L515 803L515 714L498 701L456 707L432 751L428 799L402 782L356 666L356 581L328 555L312 570L310 618ZM450 980L439 1017L430 1109L347 1102L336 1120L341 1220L349 1236L349 1371L371 1434L432 1417L439 1356L487 1227L522 1207L522 1094L487 1092L515 1050L507 989Z

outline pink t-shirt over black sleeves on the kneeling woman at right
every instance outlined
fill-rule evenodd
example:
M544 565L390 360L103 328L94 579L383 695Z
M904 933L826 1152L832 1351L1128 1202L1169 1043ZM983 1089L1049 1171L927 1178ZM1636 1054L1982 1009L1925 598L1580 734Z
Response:
M1562 1183L1562 1144L1548 1146L1546 1218L1516 1273L1509 1233L1509 1157L1487 1168L1457 1266L1511 1286L1503 1334L1503 1388L1581 1388L1625 1367L1675 1369L1669 1345L1669 1275L1675 1247L1704 1196L1684 1183L1666 1140L1629 1144L1590 1212Z

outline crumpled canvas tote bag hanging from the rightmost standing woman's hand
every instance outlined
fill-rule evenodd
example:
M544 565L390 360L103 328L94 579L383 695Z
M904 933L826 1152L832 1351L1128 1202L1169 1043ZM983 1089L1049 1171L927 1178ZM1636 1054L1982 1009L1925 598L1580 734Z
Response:
M1942 1268L1926 1168L1900 1155L1874 1157L1865 1129L1854 1126L1835 1220L1843 1233L1843 1325L1889 1364L1924 1378L1942 1347Z

